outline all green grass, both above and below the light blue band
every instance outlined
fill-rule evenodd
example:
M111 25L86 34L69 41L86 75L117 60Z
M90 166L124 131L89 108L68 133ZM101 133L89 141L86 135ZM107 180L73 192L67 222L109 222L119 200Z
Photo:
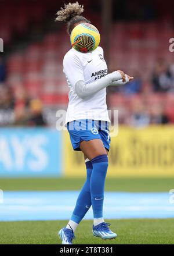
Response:
M2 190L79 190L85 179L0 179ZM107 178L106 191L169 191L173 177ZM118 234L115 240L92 235L92 221L79 225L74 244L174 244L174 219L106 220ZM0 222L0 244L59 244L57 231L67 221Z

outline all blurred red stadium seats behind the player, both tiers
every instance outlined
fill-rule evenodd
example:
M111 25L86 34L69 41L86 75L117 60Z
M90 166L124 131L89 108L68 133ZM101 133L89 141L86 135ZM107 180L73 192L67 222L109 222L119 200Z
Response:
M20 3L20 8L17 7L16 2ZM87 5L87 2L84 1L84 4ZM49 0L27 0L25 3L16 0L10 4L6 0L1 4L3 8L0 10L0 34L5 43L10 43L13 34L26 33L28 26L32 23L41 23L46 13L53 11L55 13L61 5ZM93 13L88 15L102 34L100 19ZM172 27L167 22L129 24L117 22L113 24L111 32L110 69L122 69L132 74L138 70L143 78L144 87L149 85L149 77L157 58L163 57L168 63L173 61L173 55L166 47L169 45L169 38L173 37ZM14 90L18 85L23 84L30 97L39 96L45 105L66 105L68 87L62 62L68 49L70 49L70 40L63 27L55 33L47 34L43 41L31 43L24 51L15 52L8 59L8 84ZM173 97L163 95L160 98L160 96L151 95L152 101L157 98L158 102L168 102L165 109L173 120ZM164 97L168 100L166 101ZM134 101L133 97L128 98L118 94L111 95L109 99L113 107L121 102L130 105Z

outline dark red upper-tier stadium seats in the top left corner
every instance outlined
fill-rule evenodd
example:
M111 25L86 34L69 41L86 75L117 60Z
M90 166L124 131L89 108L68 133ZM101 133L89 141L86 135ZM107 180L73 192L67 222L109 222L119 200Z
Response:
M86 8L89 2L84 0ZM49 13L55 15L63 1L49 0L1 0L0 35L5 44L10 44L13 35L23 35L28 26L41 23Z

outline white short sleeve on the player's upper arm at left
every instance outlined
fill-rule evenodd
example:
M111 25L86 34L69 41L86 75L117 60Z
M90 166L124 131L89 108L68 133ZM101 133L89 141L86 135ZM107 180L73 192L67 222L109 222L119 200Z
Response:
M66 55L63 59L63 72L66 74L71 86L75 86L77 81L84 79L84 71L78 57L75 55Z

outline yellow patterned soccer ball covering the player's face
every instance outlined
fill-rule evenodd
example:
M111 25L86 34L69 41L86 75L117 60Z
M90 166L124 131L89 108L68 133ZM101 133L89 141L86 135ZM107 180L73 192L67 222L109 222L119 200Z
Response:
M87 54L99 46L100 33L92 24L81 23L74 27L70 41L76 51Z

